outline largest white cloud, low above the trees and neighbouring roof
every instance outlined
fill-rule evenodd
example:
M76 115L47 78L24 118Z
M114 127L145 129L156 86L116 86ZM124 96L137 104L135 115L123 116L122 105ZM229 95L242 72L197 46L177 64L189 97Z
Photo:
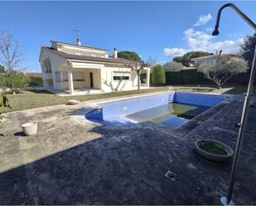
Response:
M186 48L164 48L163 52L167 57L174 57L177 55L184 55L189 51L207 51L215 53L216 51L223 50L223 53L235 54L239 52L240 44L244 39L239 38L237 40L226 41L213 41L215 36L211 36L205 31L196 31L193 28L189 28L183 33L183 40L186 41Z

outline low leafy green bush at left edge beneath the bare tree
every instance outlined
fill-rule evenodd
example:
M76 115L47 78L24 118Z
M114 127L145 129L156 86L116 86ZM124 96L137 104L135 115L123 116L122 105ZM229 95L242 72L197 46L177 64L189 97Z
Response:
M13 93L19 93L28 86L29 79L22 72L8 71L0 76L0 87L12 89Z

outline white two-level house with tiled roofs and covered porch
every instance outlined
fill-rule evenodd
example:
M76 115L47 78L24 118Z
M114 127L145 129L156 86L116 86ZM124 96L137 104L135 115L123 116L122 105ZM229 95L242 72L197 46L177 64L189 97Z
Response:
M103 92L137 89L137 73L126 66L131 60L118 58L118 51L71 45L51 41L51 47L42 46L39 61L46 89L68 91L74 94L82 89L99 89ZM137 62L138 63L138 62ZM150 68L146 85L149 87Z

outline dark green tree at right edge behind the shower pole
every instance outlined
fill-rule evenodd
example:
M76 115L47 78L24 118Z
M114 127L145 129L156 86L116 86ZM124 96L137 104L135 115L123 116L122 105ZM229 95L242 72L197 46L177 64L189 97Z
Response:
M246 36L244 38L244 44L240 45L240 53L244 57L244 60L248 62L249 68L253 64L255 46L256 33L254 33L254 36Z

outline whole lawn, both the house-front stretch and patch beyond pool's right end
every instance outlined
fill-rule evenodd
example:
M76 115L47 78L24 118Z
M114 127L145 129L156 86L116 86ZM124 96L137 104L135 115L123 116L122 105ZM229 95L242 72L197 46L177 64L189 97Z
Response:
M183 90L187 92L212 92L212 93L229 93L229 94L239 94L246 92L247 87L244 85L227 85L223 89L216 89L215 85L175 85L174 89ZM54 93L42 91L24 91L23 93L18 93L16 95L7 94L9 98L9 103L11 108L0 108L0 113L6 113L10 111L24 110L28 108L41 108L51 105L58 105L67 103L70 99L79 99L80 101L88 101L101 98L114 98L121 97L125 95L138 94L138 93L150 93L150 92L162 92L167 91L166 87L159 87L154 89L142 89L141 91L123 91L114 93L99 93L99 94L89 94L82 96L70 96L70 97L60 97ZM256 93L254 87L253 93Z

